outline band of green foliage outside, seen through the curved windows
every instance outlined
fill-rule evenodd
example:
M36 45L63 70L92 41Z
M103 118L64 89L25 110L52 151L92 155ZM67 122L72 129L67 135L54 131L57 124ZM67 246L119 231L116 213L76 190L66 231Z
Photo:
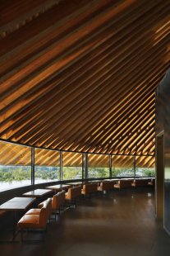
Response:
M113 168L113 177L134 176L133 168ZM154 177L154 168L136 168L136 176ZM109 168L89 168L89 178L108 178ZM25 181L31 178L30 166L0 166L0 182ZM35 179L59 180L59 168L35 166ZM82 168L63 167L63 180L82 178Z

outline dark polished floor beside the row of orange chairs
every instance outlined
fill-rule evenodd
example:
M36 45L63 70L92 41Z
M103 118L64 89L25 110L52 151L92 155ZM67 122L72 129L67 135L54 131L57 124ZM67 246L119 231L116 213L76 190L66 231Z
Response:
M93 195L52 221L44 242L0 244L0 255L170 255L170 236L154 212L154 191L147 188Z

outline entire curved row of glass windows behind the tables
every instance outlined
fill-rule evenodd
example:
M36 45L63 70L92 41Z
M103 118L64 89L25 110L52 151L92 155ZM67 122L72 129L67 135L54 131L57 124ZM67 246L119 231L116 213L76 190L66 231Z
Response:
M31 147L0 140L0 191L31 185ZM84 155L84 163L82 156ZM87 162L85 161L87 155ZM82 167L87 178L109 177L108 154L81 154L50 149L34 149L34 183L81 179ZM112 155L112 177L155 177L155 158L152 156ZM85 174L85 163L87 173ZM85 176L86 177L86 176ZM84 178L85 178L84 177Z

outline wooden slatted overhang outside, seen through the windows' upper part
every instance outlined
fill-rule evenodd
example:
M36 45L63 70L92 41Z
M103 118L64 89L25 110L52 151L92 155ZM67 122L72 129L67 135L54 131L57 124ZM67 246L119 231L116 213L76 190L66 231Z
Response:
M31 149L23 145L16 145L0 141L0 165L30 166ZM50 149L34 149L35 166L60 166L60 152ZM113 155L112 168L133 168L132 155ZM82 167L82 154L62 152L63 167ZM89 168L109 168L108 154L88 154ZM136 156L136 168L154 168L152 156Z

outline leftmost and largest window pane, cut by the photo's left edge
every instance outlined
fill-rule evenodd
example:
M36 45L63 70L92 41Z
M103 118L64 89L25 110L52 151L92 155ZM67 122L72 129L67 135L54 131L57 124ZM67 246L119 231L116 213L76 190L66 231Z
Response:
M31 148L0 141L0 191L31 185Z

